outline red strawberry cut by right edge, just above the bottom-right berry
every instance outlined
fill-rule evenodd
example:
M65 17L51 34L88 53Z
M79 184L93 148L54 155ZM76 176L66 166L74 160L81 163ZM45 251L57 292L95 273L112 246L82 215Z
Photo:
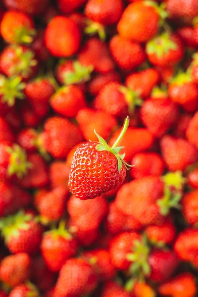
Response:
M180 259L198 267L198 230L182 230L175 241L174 249Z

